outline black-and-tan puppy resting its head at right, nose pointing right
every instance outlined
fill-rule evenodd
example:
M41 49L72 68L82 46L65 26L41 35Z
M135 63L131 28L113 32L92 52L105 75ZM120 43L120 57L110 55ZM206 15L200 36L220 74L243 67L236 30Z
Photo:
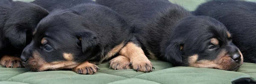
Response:
M234 71L243 63L229 31L213 18L193 16L166 0L96 0L96 3L115 10L134 27L135 37L150 58L175 66ZM116 66L111 64L115 61L111 60L110 65Z

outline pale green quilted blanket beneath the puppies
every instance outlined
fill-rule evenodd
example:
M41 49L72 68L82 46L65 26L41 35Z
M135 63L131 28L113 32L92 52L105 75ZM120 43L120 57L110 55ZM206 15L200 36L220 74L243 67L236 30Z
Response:
M107 63L93 75L73 71L29 72L26 68L0 67L0 84L231 84L239 78L256 78L256 64L244 63L238 72L209 68L173 67L168 62L151 60L153 72L133 69L113 70Z

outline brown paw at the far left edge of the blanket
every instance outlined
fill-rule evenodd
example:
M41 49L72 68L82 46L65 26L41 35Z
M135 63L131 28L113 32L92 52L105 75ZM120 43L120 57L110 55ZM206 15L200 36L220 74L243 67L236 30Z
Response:
M20 57L14 57L14 56L3 56L0 60L0 65L3 65L6 68L20 68L24 67L21 64Z

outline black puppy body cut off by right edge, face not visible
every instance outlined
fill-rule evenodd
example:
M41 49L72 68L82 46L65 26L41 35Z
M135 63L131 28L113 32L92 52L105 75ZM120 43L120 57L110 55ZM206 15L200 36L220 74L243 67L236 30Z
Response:
M256 3L236 0L209 1L198 6L195 15L222 22L241 50L244 62L256 63Z

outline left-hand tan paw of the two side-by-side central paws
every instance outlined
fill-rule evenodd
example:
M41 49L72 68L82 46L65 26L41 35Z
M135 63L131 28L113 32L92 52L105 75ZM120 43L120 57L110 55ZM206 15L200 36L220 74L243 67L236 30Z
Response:
M110 67L109 68L113 68L115 70L118 69L131 69L130 66L130 60L122 55L119 55L115 58L113 58L112 60L109 61Z

